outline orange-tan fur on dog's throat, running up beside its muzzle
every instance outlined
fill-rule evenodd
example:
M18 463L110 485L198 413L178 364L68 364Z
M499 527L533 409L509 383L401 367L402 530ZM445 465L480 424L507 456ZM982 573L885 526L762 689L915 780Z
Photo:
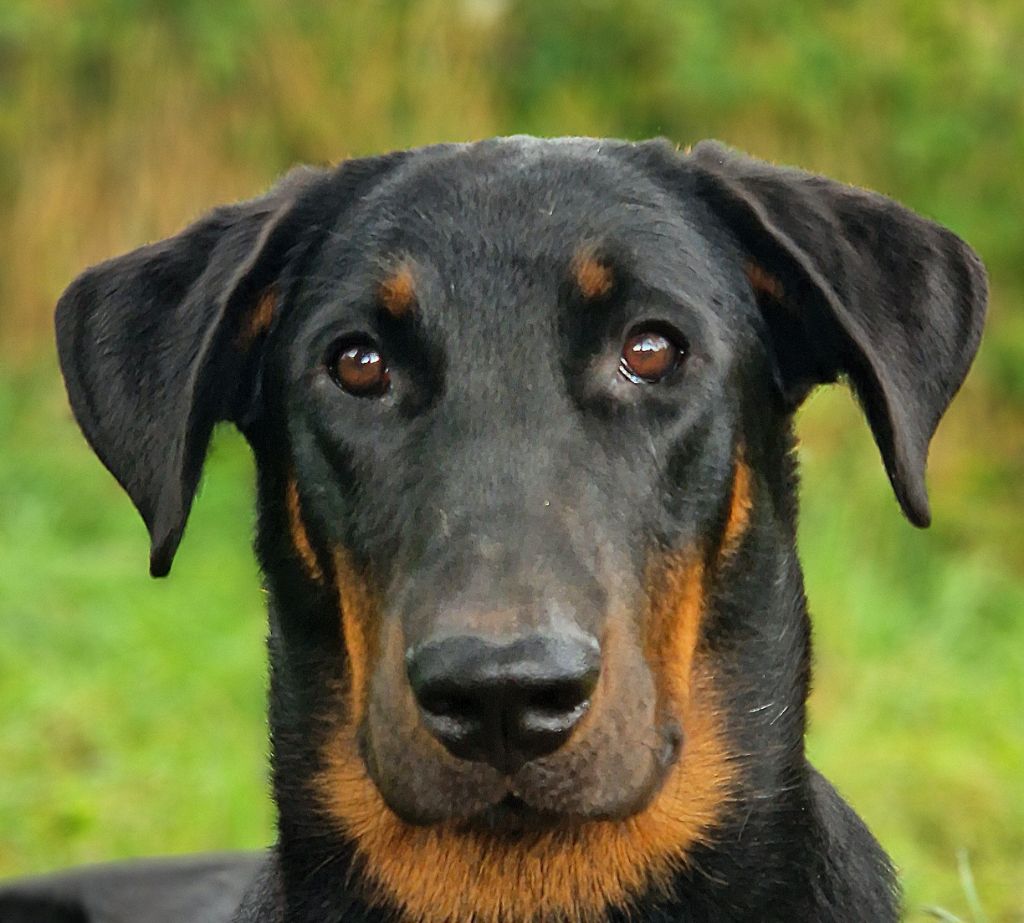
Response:
M344 585L349 578L343 575L344 567ZM628 904L647 887L668 888L692 846L711 838L734 781L712 670L697 655L703 576L699 556L691 553L667 556L651 569L653 627L646 653L664 708L680 720L686 742L654 800L628 821L513 842L446 825L412 827L388 809L367 774L355 723L339 728L316 793L365 859L368 897L399 907L406 923L596 923L609 907ZM361 604L343 594L343 609ZM358 627L350 632L348 618L344 624L349 657L366 663ZM353 689L365 684L353 669Z

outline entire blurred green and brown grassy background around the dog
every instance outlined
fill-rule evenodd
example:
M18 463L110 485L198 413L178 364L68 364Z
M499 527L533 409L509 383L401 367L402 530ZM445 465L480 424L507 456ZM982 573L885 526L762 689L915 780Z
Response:
M1017 0L6 0L0 875L272 829L251 462L218 434L174 574L150 581L51 354L72 276L294 162L718 136L894 195L988 263L931 530L899 515L844 391L802 413L810 751L895 857L908 919L1024 920L1022 51Z

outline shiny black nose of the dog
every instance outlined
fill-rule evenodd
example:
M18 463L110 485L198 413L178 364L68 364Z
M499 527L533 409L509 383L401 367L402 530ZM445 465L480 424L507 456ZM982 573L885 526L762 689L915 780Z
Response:
M600 660L586 635L504 644L456 636L410 651L406 663L431 733L460 759L511 773L565 743L590 705Z

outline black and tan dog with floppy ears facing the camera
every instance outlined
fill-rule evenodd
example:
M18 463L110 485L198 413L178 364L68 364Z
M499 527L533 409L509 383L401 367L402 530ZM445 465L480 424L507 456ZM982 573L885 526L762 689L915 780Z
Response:
M880 195L589 138L303 168L86 270L61 368L154 576L215 425L255 455L279 832L0 919L896 920L805 756L793 420L848 379L927 526L986 292Z

